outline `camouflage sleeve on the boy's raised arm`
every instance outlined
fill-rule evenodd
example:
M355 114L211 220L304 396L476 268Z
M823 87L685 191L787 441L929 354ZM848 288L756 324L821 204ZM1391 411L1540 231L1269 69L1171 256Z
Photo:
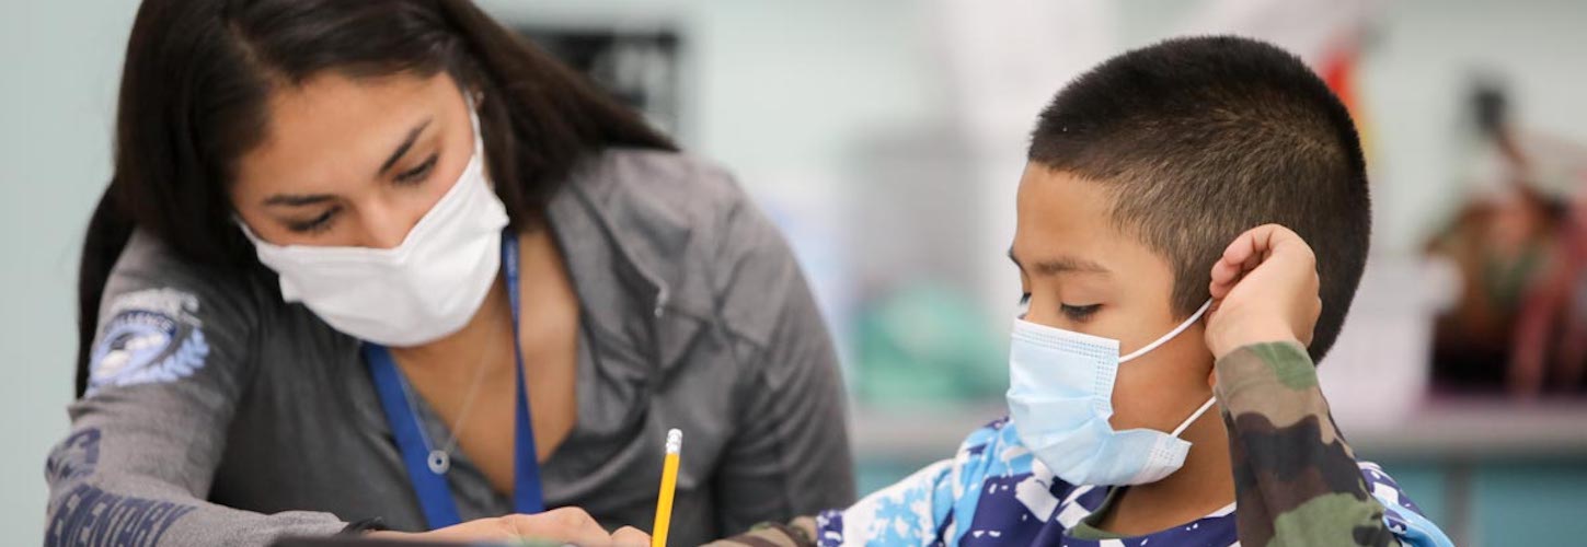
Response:
M1306 349L1252 344L1216 365L1243 545L1398 545Z

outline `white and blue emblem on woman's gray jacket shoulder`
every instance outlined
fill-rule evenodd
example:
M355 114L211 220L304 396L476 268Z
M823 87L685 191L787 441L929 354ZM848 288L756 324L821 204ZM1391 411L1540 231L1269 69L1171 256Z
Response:
M171 382L203 368L198 298L173 289L149 289L116 298L89 357L89 395L113 385Z

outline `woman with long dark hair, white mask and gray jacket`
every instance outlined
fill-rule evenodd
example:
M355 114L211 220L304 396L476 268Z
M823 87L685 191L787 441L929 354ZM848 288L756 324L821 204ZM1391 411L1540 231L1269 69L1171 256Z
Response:
M114 140L48 544L647 528L668 428L676 544L852 501L776 228L468 2L144 2Z

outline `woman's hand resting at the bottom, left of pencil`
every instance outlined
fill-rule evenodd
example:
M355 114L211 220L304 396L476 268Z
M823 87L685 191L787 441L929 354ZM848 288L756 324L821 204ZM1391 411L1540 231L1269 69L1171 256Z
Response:
M538 539L581 547L646 547L651 544L651 536L633 526L624 526L617 533L608 534L594 517L579 507L560 507L533 515L478 518L424 533L375 531L370 536L455 542Z

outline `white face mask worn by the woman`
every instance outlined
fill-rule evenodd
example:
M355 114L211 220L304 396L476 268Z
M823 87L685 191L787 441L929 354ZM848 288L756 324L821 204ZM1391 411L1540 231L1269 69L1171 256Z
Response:
M336 330L384 346L419 346L455 333L484 303L501 265L506 208L484 173L479 117L475 152L446 195L392 249L275 246L241 220L259 262Z

